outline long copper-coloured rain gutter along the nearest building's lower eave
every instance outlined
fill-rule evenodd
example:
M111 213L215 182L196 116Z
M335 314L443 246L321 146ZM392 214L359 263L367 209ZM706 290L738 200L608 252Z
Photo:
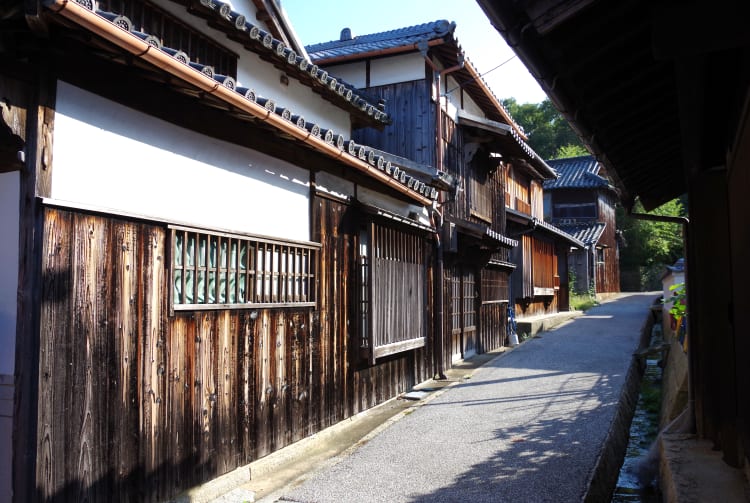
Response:
M309 145L316 151L332 159L339 160L358 171L366 173L372 178L383 182L399 193L404 194L425 206L432 204L430 198L414 193L386 173L379 171L376 167L370 166L368 163L360 159L345 154L344 151L340 150L337 146L329 145L323 139L318 138L305 129L297 127L296 124L285 120L280 115L266 110L258 103L247 100L241 94L223 86L221 83L202 74L198 70L180 63L167 53L147 44L141 38L132 33L113 25L108 20L86 7L79 5L73 0L44 0L43 3L52 12L75 22L79 26L86 28L92 33L126 50L128 53L161 68L172 76L194 85L201 91L220 98L228 105L247 112L255 119L269 124L275 129L288 134L292 138Z

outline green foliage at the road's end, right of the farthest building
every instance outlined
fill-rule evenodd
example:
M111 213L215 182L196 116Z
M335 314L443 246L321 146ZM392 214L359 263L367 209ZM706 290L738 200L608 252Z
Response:
M643 213L636 202L633 213ZM653 211L652 215L686 216L682 199L673 199ZM661 288L661 275L666 266L684 255L680 224L639 220L617 209L617 228L622 231L620 249L621 286L624 290L656 290Z

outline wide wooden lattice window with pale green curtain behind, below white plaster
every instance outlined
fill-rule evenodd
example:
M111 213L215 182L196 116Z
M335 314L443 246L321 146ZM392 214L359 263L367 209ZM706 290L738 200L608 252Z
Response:
M317 244L171 230L175 309L315 305Z

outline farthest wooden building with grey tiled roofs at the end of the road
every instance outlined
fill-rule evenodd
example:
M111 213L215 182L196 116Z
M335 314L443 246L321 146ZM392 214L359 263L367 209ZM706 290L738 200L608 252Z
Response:
M620 291L620 253L615 206L618 195L592 156L547 161L557 178L544 182L544 217L576 237L571 250L571 289L607 297ZM572 273L572 274L571 274Z

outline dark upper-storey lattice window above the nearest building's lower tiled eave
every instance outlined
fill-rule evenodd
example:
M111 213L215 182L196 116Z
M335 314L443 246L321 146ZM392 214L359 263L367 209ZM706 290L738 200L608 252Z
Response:
M155 36L164 47L184 52L190 61L237 78L237 54L155 5L142 0L99 0L98 6L127 17L135 30Z

